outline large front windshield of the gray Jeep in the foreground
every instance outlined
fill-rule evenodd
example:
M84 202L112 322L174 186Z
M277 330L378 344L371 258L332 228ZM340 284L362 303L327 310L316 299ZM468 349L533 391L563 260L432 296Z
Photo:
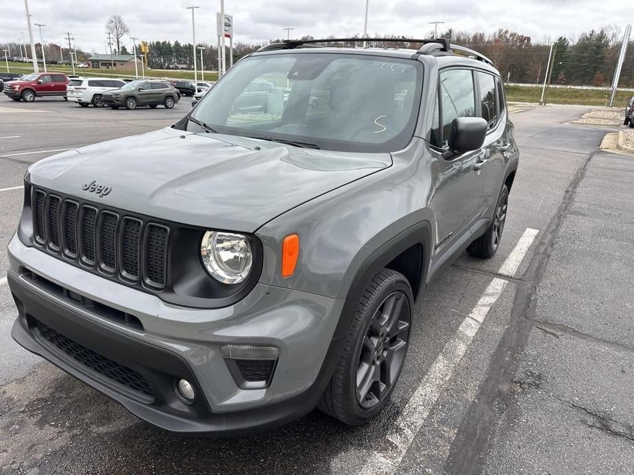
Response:
M413 60L263 55L231 68L191 117L219 133L389 152L411 140L421 88L422 65ZM192 121L188 129L200 130Z

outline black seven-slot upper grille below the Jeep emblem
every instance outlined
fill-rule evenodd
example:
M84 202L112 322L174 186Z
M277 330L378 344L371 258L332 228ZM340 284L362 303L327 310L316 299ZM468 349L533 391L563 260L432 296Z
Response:
M118 281L164 289L169 227L40 189L32 209L34 243L49 253Z

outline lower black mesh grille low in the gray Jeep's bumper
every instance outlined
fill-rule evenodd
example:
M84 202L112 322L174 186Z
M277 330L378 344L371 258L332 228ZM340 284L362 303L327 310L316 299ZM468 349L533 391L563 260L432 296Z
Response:
M82 363L103 376L106 376L106 378L110 380L116 381L120 385L147 396L153 396L147 381L145 381L145 378L143 378L141 374L138 374L138 372L131 370L126 366L120 365L116 361L103 357L99 355L99 353L74 342L69 337L51 329L50 326L43 324L39 320L36 320L36 326L40 335L42 335L42 338L46 339L47 342L56 346L58 350L66 353L66 355L73 358L75 361Z

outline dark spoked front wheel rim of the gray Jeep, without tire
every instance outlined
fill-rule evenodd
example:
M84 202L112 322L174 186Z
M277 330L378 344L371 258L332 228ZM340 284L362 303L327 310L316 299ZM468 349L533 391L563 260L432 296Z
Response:
M403 292L392 292L378 306L363 337L356 370L356 400L371 409L385 398L405 361L411 309Z

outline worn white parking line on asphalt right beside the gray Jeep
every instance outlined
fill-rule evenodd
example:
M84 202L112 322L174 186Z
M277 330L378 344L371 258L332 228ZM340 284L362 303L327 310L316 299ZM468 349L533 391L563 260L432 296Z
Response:
M537 235L535 229L528 228L524 231L522 238L500 267L500 272L502 270L511 272L508 274L511 276L515 273L535 239L535 235ZM461 322L456 333L432 363L414 395L396 418L391 432L385 437L383 443L378 444L385 449L371 453L360 472L362 475L393 474L398 469L419 428L436 404L446 383L453 376L467 348L489 314L489 310L496 303L507 283L508 281L497 277L489 283L476 306Z

